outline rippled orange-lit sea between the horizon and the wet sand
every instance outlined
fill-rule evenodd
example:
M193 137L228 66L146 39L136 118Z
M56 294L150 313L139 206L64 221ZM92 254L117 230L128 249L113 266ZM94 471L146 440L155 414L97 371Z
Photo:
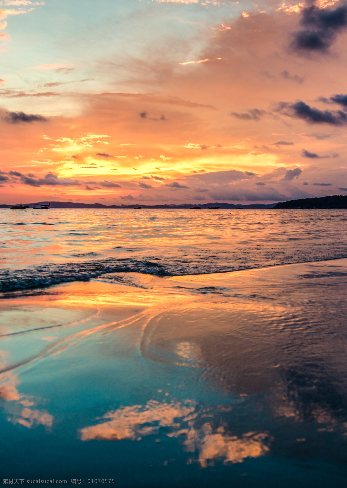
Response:
M347 256L347 210L0 209L0 291Z

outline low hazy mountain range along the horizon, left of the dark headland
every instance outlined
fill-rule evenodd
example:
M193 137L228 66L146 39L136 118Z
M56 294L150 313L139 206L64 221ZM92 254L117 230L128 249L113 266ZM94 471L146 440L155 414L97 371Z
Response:
M251 203L249 205L241 205L234 203L182 203L181 205L175 205L174 203L170 203L169 205L143 205L142 203L136 203L131 205L103 205L102 203L74 203L74 202L37 202L50 204L50 208L134 208L141 206L142 208L190 208L192 206L199 206L201 208L208 208L208 207L220 207L220 208L236 208L237 206L242 206L243 208L272 208L278 203ZM29 205L30 208L34 206L34 203L25 203L25 205ZM0 205L0 208L9 208L11 205Z

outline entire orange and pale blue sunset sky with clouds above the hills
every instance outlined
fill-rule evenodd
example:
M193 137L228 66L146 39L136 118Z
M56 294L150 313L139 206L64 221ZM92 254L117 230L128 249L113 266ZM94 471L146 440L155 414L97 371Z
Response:
M0 1L0 203L347 195L347 2Z

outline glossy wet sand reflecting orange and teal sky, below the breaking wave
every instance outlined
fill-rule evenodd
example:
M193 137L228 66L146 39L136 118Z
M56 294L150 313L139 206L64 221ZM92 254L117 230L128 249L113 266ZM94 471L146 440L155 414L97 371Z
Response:
M346 486L347 259L3 295L3 478Z

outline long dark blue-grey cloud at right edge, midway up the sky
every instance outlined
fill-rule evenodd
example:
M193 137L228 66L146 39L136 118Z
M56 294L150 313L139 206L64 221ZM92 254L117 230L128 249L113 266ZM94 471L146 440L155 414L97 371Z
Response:
M297 100L295 103L279 102L273 110L292 119L302 119L312 124L344 125L347 123L347 115L341 110L319 110L318 108L310 107L301 100Z

